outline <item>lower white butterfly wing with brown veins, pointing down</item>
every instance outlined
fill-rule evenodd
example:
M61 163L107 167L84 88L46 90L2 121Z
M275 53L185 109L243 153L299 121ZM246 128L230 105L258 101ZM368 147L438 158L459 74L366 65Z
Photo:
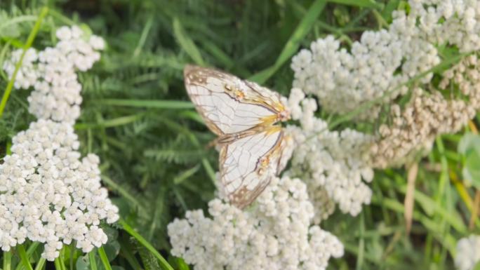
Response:
M220 182L230 203L244 208L283 169L287 144L280 126L224 144L220 150Z

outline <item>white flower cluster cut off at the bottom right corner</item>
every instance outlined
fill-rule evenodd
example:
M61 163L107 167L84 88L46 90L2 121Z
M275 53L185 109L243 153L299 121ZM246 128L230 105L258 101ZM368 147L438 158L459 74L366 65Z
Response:
M455 266L458 270L474 270L480 263L480 236L472 235L462 238L457 243Z

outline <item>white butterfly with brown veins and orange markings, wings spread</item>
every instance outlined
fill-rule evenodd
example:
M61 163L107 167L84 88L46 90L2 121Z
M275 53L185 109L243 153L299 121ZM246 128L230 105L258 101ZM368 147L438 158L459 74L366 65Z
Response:
M206 126L218 135L222 194L237 208L251 204L291 156L290 118L281 95L216 69L187 65L185 88Z

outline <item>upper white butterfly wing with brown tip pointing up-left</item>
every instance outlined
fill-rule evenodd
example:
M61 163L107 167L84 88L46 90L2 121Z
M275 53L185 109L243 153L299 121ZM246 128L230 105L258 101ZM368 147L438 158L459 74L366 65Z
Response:
M232 135L286 115L280 95L216 69L187 65L185 88L213 133Z

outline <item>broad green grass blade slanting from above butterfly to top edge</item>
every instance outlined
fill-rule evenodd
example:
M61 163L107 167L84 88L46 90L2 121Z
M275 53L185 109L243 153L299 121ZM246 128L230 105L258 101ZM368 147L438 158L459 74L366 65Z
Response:
M300 48L300 42L305 38L305 36L312 29L316 18L319 17L320 13L324 11L326 5L326 0L316 0L309 10L305 14L305 17L300 21L295 32L293 32L290 39L284 46L284 49L281 51L279 58L276 59L272 67L258 72L257 74L251 76L249 80L255 81L257 83L265 83L275 72L282 66L284 63L289 60L295 53L297 53L298 48Z

